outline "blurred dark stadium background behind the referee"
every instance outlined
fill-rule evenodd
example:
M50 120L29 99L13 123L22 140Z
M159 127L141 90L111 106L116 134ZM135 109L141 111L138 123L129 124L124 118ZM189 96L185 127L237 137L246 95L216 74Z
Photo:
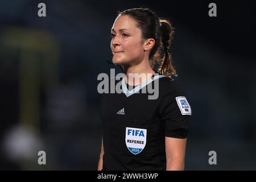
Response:
M121 71L107 63L110 28L117 11L134 7L175 27L175 79L192 107L185 169L256 170L253 1L135 0L0 1L0 169L97 169L97 76Z

